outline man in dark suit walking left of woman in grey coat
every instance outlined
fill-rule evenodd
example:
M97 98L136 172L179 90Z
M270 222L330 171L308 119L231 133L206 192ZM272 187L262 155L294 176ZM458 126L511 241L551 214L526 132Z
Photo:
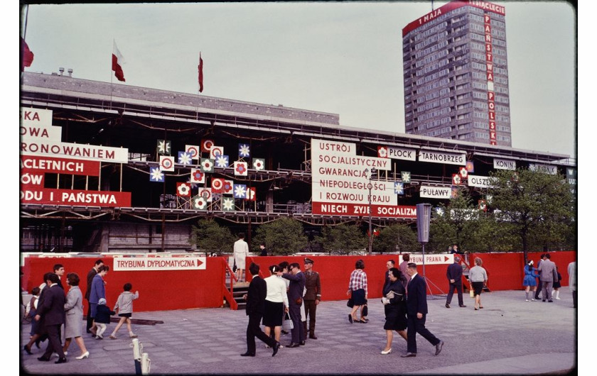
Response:
M60 343L60 325L64 324L64 290L58 286L60 279L54 273L48 276L47 291L43 297L41 307L38 307L35 319L39 321L43 316L45 331L48 332L48 347L45 353L38 360L49 362L52 353L58 354L58 360L55 363L66 363L66 357Z

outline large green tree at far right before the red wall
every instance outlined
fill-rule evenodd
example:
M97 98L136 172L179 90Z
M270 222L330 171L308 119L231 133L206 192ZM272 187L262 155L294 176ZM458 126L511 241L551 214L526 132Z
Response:
M574 199L561 175L518 169L490 173L490 209L510 223L527 262L529 244L549 248L563 243L574 225Z

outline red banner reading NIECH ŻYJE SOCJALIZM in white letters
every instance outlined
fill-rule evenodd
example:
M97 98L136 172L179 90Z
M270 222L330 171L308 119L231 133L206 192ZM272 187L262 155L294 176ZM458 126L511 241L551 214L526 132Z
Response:
M369 205L348 202L317 202L311 206L313 214L333 216L369 216ZM416 219L416 206L371 205L371 215L387 218Z

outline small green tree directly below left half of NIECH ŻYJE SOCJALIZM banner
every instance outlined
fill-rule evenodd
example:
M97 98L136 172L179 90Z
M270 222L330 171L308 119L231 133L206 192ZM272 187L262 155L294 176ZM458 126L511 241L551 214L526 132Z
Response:
M316 242L321 243L323 250L330 255L349 255L367 247L367 236L359 226L343 223L334 227L324 227L321 237L316 237Z

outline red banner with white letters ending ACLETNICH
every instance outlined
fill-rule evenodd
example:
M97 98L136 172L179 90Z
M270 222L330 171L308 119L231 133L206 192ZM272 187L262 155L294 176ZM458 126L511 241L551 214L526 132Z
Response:
M80 160L39 155L21 155L21 171L43 171L55 174L99 176L99 163L95 160Z

